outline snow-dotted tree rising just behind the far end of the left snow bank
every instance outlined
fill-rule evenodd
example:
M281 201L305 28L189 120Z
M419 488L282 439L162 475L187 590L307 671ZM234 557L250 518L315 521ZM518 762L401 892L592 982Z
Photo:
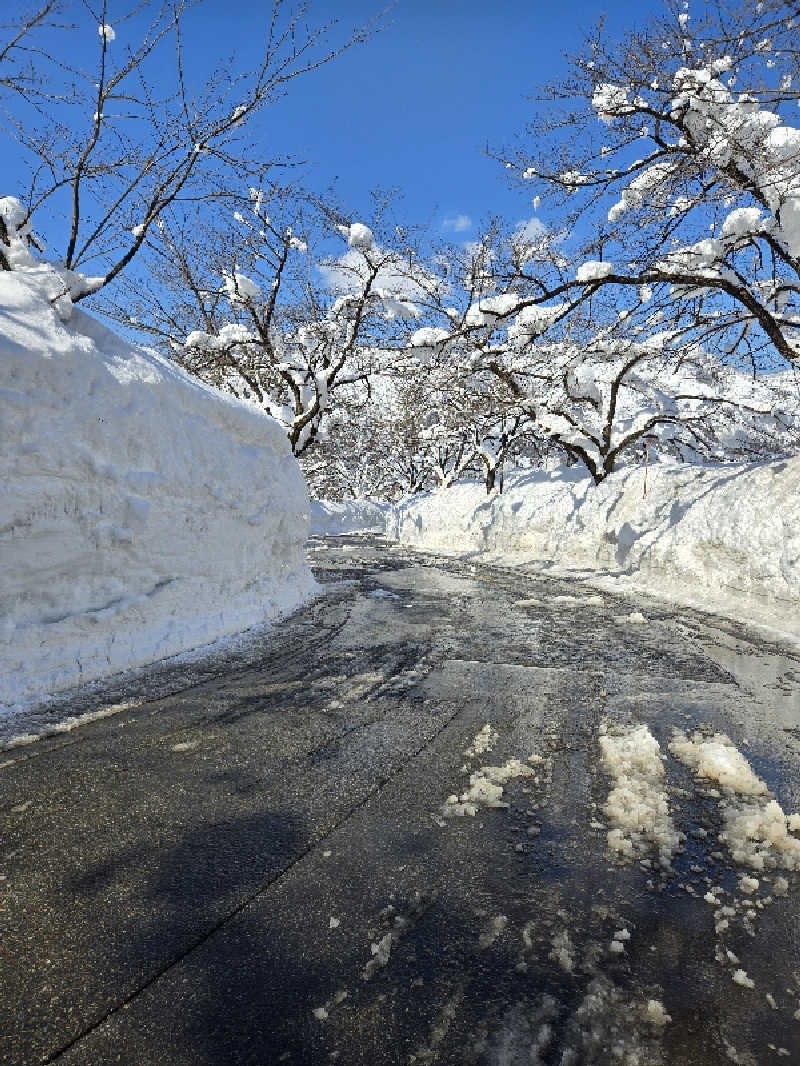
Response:
M128 286L125 320L204 381L261 406L301 455L341 424L337 397L351 414L369 404L426 276L404 246L299 194L253 188L241 207L199 232L165 223L150 241L154 284Z

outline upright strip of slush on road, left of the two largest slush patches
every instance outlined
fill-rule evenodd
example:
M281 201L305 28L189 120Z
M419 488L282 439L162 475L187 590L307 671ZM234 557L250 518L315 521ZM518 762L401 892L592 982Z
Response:
M602 732L599 746L603 769L613 781L603 808L613 826L608 830L610 851L633 859L655 847L660 865L669 869L681 836L670 817L658 741L641 725Z

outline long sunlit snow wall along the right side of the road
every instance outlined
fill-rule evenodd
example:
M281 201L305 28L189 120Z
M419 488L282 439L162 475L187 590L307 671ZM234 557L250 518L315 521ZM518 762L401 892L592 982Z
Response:
M445 553L578 572L800 636L800 458L628 468L595 487L578 468L457 484L397 505L388 536ZM499 558L498 558L499 556Z

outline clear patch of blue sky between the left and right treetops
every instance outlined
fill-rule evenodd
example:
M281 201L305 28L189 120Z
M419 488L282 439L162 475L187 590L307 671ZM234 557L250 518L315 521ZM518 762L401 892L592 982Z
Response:
M219 39L220 0L195 16L197 47L210 58ZM262 4L226 6L224 34L253 33ZM643 19L661 4L637 6ZM313 7L313 19L337 17L363 25L380 0L338 0ZM512 221L532 213L511 190L501 166L482 154L522 132L533 102L526 95L564 70L563 51L606 12L609 29L630 26L620 0L399 0L386 28L369 43L289 87L269 110L266 132L275 149L309 160L308 182L323 189L334 177L347 206L366 211L374 187L399 187L400 211L411 223L477 223L487 213ZM274 139L274 140L273 140ZM468 228L463 232L468 239Z

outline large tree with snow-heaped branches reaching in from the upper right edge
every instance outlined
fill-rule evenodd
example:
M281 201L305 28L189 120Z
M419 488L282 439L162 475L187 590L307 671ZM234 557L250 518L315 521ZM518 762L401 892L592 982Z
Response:
M669 297L738 365L800 366L797 4L669 2L622 42L601 28L544 99L507 163L572 236L557 297Z

